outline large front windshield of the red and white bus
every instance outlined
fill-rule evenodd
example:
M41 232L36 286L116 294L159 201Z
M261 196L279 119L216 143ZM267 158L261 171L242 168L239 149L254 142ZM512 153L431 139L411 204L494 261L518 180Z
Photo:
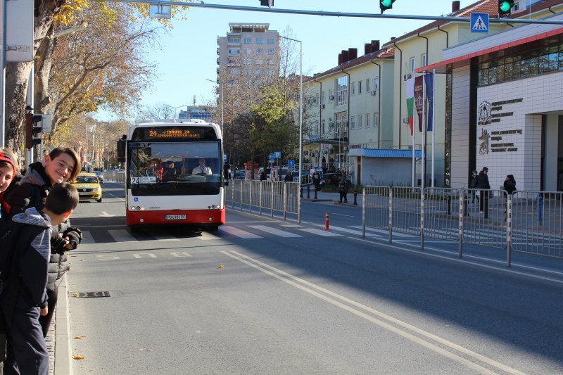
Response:
M129 142L127 187L134 196L216 195L220 141Z

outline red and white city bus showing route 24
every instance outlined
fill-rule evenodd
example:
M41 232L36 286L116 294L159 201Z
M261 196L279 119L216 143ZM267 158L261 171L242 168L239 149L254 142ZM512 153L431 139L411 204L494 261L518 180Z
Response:
M224 224L222 133L203 120L141 122L118 142L125 155L127 226Z

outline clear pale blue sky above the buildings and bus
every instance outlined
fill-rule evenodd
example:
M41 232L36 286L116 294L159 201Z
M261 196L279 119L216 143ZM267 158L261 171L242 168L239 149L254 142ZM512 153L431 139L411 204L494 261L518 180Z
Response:
M461 8L475 0L461 1ZM206 4L260 7L260 0L205 0ZM267 7L261 7L267 9ZM377 0L274 0L274 8L331 11L343 13L378 13ZM396 0L391 11L396 15L447 15L452 0ZM391 37L400 37L417 27L431 23L426 20L382 20L377 18L336 18L319 15L223 11L211 8L189 8L187 20L174 21L174 28L161 37L162 51L149 51L148 59L157 65L157 75L151 91L143 95L142 104L152 106L203 105L214 100L213 82L217 78L217 37L224 37L229 23L269 23L270 30L284 34L291 27L293 38L303 42L303 72L314 74L333 68L343 49L357 48L358 56L364 44L379 39L381 44ZM295 44L296 49L299 48ZM108 120L100 113L99 120Z

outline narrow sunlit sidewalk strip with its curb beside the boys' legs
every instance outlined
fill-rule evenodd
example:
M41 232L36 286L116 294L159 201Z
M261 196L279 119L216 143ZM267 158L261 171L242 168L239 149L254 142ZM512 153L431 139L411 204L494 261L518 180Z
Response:
M58 301L45 339L49 350L49 374L72 374L72 345L70 343L70 321L68 320L68 280L63 277L58 287Z

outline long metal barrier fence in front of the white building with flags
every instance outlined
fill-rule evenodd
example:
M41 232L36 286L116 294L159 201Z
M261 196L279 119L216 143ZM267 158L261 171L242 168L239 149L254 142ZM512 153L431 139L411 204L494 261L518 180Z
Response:
M365 186L365 228L563 258L563 193Z

